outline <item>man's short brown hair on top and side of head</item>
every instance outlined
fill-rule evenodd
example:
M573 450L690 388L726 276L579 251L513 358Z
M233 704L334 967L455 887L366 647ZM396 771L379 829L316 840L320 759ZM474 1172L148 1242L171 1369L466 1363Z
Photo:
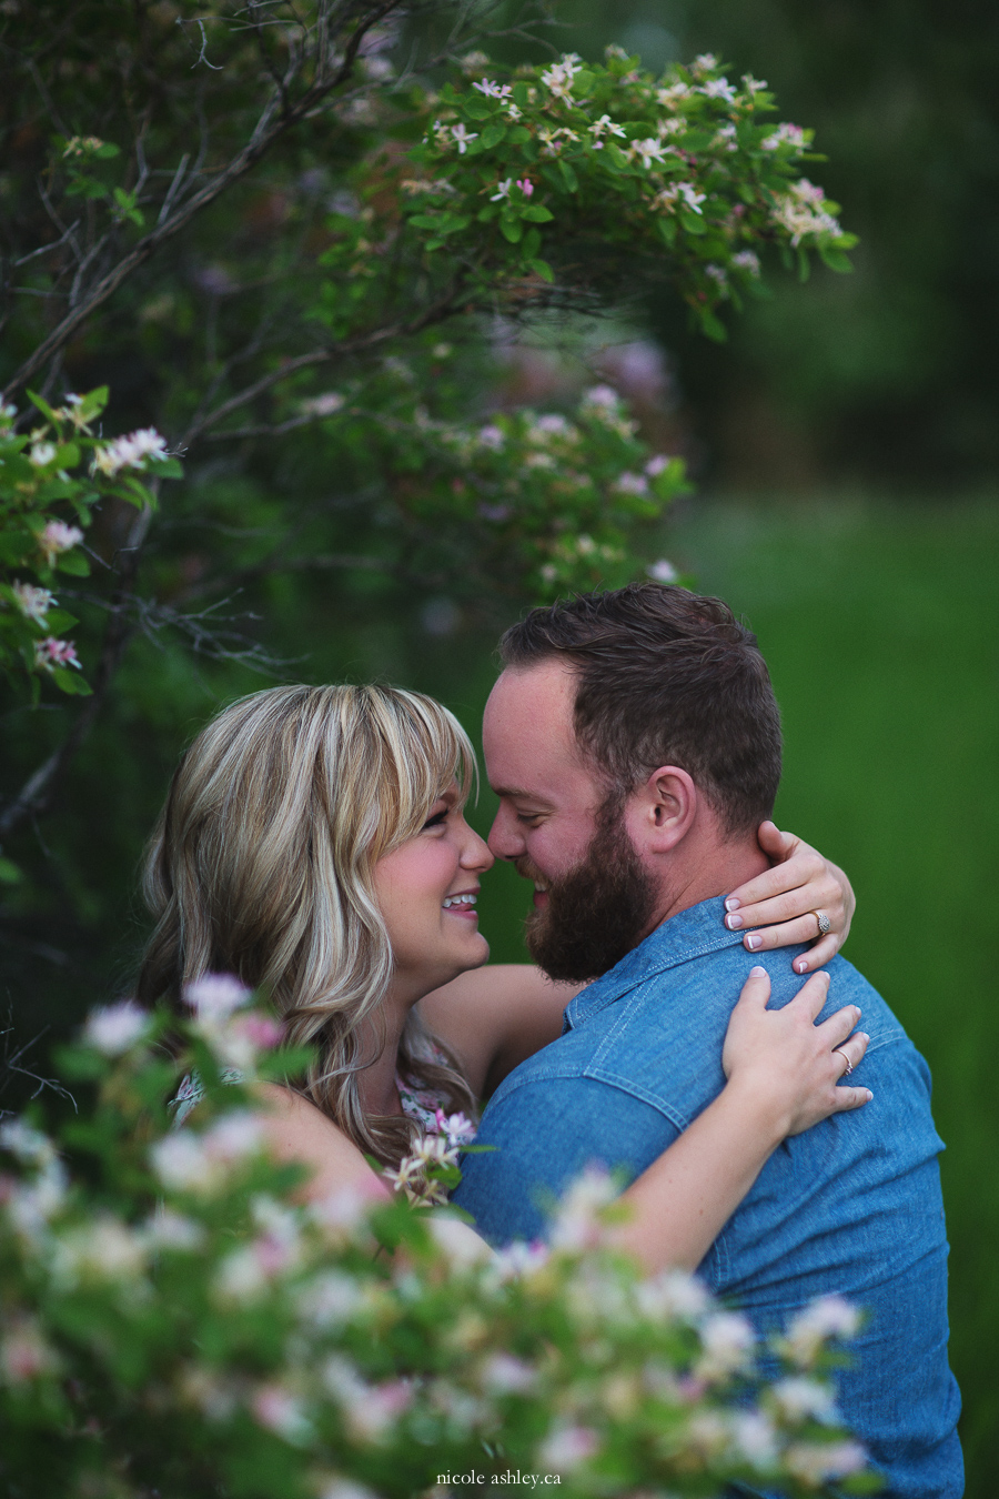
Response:
M661 764L686 770L726 833L755 829L780 781L780 712L756 637L720 598L629 583L532 609L499 645L505 667L577 673L575 733L626 796Z

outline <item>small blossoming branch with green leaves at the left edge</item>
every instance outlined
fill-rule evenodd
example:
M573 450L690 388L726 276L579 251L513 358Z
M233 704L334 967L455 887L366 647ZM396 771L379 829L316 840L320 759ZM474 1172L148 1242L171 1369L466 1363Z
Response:
M90 573L82 541L93 511L108 499L153 507L154 495L139 475L181 474L151 427L111 441L94 438L106 400L106 387L67 396L55 409L31 396L40 421L21 435L16 408L0 405L0 670L7 679L27 675L33 702L43 679L63 693L90 693L76 675L76 648L64 639L76 619L58 607L52 586L57 573Z

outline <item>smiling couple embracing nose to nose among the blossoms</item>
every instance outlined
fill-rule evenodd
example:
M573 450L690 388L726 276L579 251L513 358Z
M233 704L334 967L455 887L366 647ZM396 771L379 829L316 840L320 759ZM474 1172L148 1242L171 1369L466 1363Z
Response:
M488 847L469 741L421 694L274 688L220 714L153 839L141 997L208 971L268 986L315 1048L267 1090L309 1195L385 1192L365 1156L391 1171L491 1094L497 1148L455 1193L491 1243L544 1237L596 1162L628 1183L620 1247L698 1268L761 1331L849 1298L846 1423L887 1495L959 1499L929 1072L836 955L845 875L765 821L780 729L753 636L643 583L533 610L500 654ZM535 881L536 968L485 967L494 856Z

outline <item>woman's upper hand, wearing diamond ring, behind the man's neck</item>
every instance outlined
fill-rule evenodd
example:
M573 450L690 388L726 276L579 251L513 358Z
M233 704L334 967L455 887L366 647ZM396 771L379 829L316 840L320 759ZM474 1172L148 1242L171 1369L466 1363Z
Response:
M816 848L794 833L782 833L774 823L761 823L756 836L767 857L776 860L774 866L732 890L725 901L725 925L729 931L747 928L743 947L749 952L791 947L821 937L810 952L794 959L795 973L815 971L846 941L857 908L851 883ZM816 911L828 917L825 934L819 931Z

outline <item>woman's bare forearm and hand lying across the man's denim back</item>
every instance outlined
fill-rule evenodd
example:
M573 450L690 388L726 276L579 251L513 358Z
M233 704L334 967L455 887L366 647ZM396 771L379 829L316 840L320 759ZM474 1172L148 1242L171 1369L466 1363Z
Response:
M622 1196L631 1216L611 1243L647 1271L699 1265L782 1139L870 1102L867 1088L837 1087L867 1049L867 1036L851 1036L857 1006L815 1024L828 982L816 973L768 1010L770 979L753 968L725 1036L728 1084Z

